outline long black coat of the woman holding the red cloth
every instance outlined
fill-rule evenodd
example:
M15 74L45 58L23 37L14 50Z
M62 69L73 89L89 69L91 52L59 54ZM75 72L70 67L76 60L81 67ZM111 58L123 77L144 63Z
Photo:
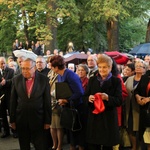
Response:
M122 89L119 78L111 77L104 81L102 87L97 76L91 77L85 96L94 95L97 92L107 93L108 101L104 101L105 111L93 114L94 105L89 103L89 114L87 123L87 142L90 144L113 146L119 144L119 128L116 107L122 103Z

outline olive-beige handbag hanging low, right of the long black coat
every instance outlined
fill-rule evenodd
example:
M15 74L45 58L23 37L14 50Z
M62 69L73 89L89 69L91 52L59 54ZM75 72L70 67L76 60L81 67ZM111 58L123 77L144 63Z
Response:
M129 134L125 127L120 128L120 146L121 147L131 147L131 142L129 138Z

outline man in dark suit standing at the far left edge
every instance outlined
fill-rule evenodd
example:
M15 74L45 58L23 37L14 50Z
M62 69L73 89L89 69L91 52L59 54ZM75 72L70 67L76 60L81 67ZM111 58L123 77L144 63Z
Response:
M0 96L4 95L1 99L1 111L0 115L2 118L2 127L4 131L1 138L5 138L10 135L10 129L7 119L7 110L9 112L9 103L10 103L10 93L11 93L11 79L14 76L14 70L8 68L6 65L6 59L0 57Z

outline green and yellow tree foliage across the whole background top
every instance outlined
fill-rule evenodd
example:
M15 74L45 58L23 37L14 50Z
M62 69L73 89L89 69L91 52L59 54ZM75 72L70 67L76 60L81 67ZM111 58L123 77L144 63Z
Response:
M107 49L106 22L119 16L120 50L145 41L147 0L7 0L0 5L0 51L13 41L50 41L57 27L59 49L72 41L76 50ZM57 21L60 19L61 21ZM146 21L145 21L146 20Z

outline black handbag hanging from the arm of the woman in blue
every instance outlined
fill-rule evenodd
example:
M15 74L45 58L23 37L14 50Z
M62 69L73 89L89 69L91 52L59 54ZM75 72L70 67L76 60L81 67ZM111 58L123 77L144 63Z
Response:
M60 124L65 129L79 131L82 128L80 115L77 109L63 107L60 114Z

